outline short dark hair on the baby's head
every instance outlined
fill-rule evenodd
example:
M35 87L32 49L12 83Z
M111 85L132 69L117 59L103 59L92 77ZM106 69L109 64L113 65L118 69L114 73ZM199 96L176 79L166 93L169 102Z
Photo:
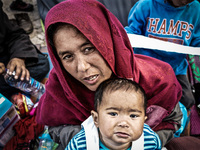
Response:
M94 110L97 111L97 107L102 102L102 97L105 92L114 92L117 90L124 90L124 91L134 91L139 92L143 99L144 99L144 111L146 114L147 108L147 98L144 89L135 81L125 79L125 78L115 78L115 79L108 79L103 81L95 92L94 97Z

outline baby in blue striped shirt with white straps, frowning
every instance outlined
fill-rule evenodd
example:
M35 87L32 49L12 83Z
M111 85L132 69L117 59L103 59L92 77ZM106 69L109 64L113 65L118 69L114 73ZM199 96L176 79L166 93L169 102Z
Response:
M103 81L95 92L92 116L82 123L66 150L161 149L158 135L144 123L146 106L145 91L136 82L123 78Z

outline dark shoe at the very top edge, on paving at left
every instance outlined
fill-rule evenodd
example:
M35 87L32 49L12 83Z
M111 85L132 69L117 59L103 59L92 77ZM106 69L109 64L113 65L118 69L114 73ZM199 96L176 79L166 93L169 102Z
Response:
M34 7L32 4L25 3L22 0L15 0L10 4L10 9L11 10L16 10L16 11L27 11L31 12L34 10Z

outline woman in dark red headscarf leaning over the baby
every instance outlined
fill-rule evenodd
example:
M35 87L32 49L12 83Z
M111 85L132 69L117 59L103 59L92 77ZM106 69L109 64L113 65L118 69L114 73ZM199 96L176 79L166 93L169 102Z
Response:
M182 117L177 105L181 86L173 69L160 60L134 55L123 26L101 3L96 0L61 2L48 12L45 31L54 67L39 101L38 123L66 126L65 133L69 135L90 116L94 92L102 81L127 78L145 89L146 123L161 140L172 138ZM58 134L62 133L60 128L57 130Z

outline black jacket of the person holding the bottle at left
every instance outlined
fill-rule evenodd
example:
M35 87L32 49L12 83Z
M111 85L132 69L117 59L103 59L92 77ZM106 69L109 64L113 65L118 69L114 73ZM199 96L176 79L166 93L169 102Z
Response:
M38 59L36 47L30 41L29 35L12 24L2 9L3 3L0 0L0 60L7 58L30 58ZM30 60L28 59L28 60Z

